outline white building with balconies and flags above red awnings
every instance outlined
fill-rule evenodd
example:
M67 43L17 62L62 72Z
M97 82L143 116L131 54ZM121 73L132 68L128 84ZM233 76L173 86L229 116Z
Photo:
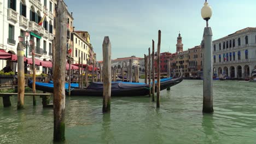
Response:
M54 3L53 0L3 0L0 2L0 49L12 54L17 53L19 36L25 37L25 31L30 31L28 42L33 39L36 58L44 61L51 60L52 43L54 39ZM46 14L43 25L38 23ZM24 38L26 40L26 38ZM24 47L26 56L26 47ZM27 57L31 58L31 49L27 47ZM0 69L7 63L16 68L16 63L0 60ZM30 70L30 69L28 69ZM44 70L37 67L37 73ZM15 70L16 71L16 70Z

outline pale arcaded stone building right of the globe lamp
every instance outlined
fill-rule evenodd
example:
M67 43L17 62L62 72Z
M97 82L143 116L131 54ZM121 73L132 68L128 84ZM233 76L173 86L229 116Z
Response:
M251 77L256 69L256 27L247 27L213 41L213 74L235 79Z

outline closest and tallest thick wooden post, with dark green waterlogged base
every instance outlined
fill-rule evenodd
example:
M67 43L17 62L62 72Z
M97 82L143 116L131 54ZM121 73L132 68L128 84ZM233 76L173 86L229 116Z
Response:
M67 9L63 1L56 8L56 51L54 62L54 141L65 140L65 71Z

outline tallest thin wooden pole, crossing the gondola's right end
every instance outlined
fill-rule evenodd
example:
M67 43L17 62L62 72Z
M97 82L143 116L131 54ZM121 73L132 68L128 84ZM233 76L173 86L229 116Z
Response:
M161 46L161 31L158 31L158 87L156 88L156 107L160 107L160 46Z

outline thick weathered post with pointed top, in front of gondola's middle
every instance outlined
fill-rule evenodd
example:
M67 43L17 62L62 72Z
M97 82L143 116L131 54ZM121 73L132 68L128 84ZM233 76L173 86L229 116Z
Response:
M103 106L102 112L110 112L111 100L111 44L108 37L104 37L103 51Z

